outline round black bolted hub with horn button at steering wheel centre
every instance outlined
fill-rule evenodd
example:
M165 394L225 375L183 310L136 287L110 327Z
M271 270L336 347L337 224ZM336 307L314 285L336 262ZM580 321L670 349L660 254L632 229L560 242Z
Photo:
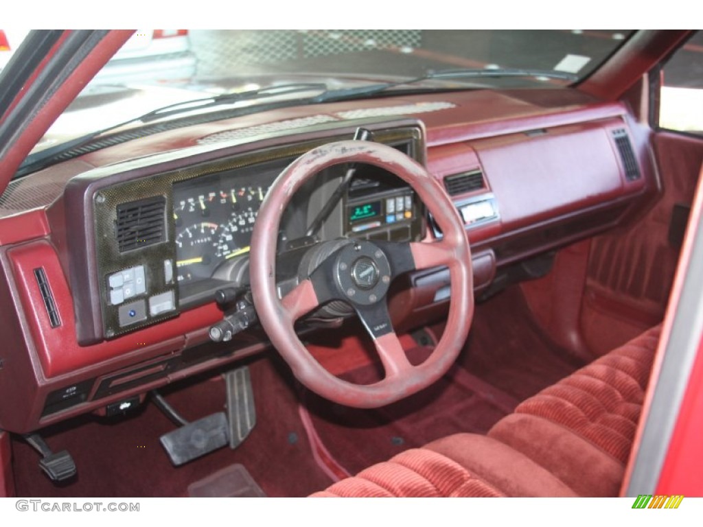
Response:
M391 267L385 253L363 240L340 251L335 269L342 298L354 304L375 304L385 296L391 282Z

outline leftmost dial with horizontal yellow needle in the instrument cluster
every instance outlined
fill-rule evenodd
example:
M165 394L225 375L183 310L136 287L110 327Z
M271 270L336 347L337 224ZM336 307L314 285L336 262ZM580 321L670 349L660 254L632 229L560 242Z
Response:
M217 266L212 248L217 243L219 225L209 221L195 223L176 235L179 259L176 260L178 280L209 277Z

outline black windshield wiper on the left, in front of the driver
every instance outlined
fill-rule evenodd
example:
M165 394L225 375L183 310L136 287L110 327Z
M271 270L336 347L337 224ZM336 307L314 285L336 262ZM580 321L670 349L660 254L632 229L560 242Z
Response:
M241 91L239 93L222 93L221 95L212 97L203 97L193 100L185 100L182 103L174 103L162 108L157 108L156 110L151 110L138 117L132 117L127 119L127 121L122 121L107 128L96 130L85 134L84 136L71 139L70 141L65 141L65 143L60 143L56 146L45 148L34 154L30 154L27 158L20 164L20 167L15 174L15 177L24 176L30 172L40 170L54 160L63 160L60 155L63 152L69 152L79 146L89 143L91 140L103 136L110 131L117 130L123 126L134 123L149 124L158 119L164 119L165 117L171 117L172 115L178 115L181 113L194 112L198 110L205 110L207 108L214 108L217 106L231 105L234 103L240 103L244 100L259 100L264 98L271 98L276 96L285 96L290 93L301 93L309 91L325 91L327 90L327 85L321 82L299 82L293 84L283 84L281 86L265 86L264 88ZM308 98L302 98L303 101L308 100ZM299 103L300 100L296 99L295 102ZM290 100L285 101L286 105L290 105ZM115 143L117 144L117 143ZM81 153L81 152L79 152ZM87 153L87 152L82 152ZM75 157L75 156L71 156Z

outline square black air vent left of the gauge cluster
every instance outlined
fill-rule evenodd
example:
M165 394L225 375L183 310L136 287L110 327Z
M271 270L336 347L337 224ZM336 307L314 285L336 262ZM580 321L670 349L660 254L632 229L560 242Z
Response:
M166 198L150 197L117 205L117 247L127 252L165 240Z

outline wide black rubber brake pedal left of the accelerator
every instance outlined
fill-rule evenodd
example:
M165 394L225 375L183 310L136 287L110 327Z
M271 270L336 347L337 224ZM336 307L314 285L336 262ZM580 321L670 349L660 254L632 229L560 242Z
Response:
M174 466L194 460L228 443L224 412L208 415L159 438Z

